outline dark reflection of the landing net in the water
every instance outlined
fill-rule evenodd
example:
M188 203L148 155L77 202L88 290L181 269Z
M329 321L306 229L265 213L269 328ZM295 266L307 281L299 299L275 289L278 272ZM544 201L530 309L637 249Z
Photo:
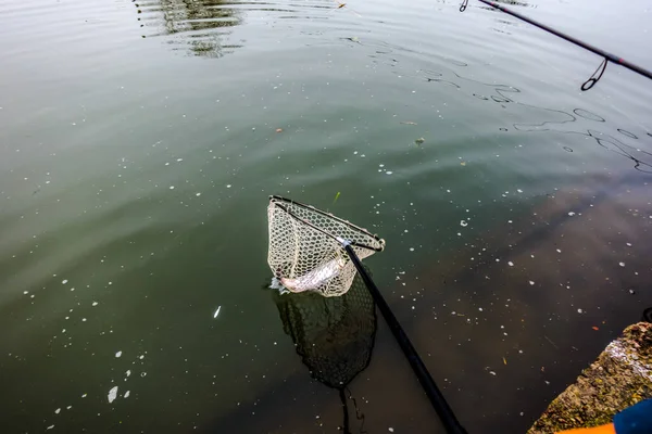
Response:
M273 291L273 294L284 331L292 339L311 376L339 391L343 429L348 433L344 391L368 366L376 336L376 310L371 293L356 276L340 297L323 297L312 292L280 295Z

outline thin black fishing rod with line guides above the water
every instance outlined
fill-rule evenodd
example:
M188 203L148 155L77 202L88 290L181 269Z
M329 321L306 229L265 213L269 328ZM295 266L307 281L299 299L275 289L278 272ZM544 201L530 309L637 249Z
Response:
M644 69L638 65L635 65L634 63L627 62L625 60L623 60L623 58L618 56L618 55L614 55L611 53L607 53L604 50L601 50L597 47L593 47L591 44L588 44L577 38L574 38L573 36L566 35L560 30L556 30L552 27L547 26L546 24L539 23L532 18L528 18L525 15L519 14L518 12L514 12L509 10L507 8L497 3L496 1L489 1L489 0L478 0L481 1L482 3L493 8L493 9L498 9L501 12L504 12L509 15L515 16L521 21L524 21L526 23L531 24L532 26L539 27L540 29L543 29L546 31L548 31L549 34L552 34L554 36L557 36L562 39L567 40L570 43L575 43L578 47L584 48L585 50L588 50L592 53L598 54L601 58L604 58L604 60L602 61L602 63L600 64L600 66L598 66L598 69L595 69L595 72L593 73L593 75L591 75L591 77L585 81L584 85L581 85L581 90L589 90L591 89L597 82L598 80L600 80L600 78L602 78L602 74L604 74L604 69L606 69L606 64L609 62L613 62L616 63L620 66L626 67L629 71L632 71L639 75L642 75L643 77L648 77L650 79L652 79L652 72ZM464 12L466 10L466 7L468 5L468 0L464 0L462 2L462 5L460 7L460 12Z

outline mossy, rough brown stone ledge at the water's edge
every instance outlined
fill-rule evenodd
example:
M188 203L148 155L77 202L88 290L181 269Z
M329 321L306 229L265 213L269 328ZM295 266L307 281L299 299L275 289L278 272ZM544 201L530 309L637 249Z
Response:
M639 322L609 344L527 433L610 423L618 411L647 398L652 398L652 323Z

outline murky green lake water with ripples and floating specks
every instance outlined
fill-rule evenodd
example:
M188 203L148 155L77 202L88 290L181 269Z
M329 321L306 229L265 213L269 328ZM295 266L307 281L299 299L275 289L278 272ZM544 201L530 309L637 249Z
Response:
M644 0L509 3L652 67ZM311 309L366 333L351 432L443 432L367 298L265 289L269 194L387 241L469 433L525 432L652 305L652 81L581 92L598 56L474 0L340 4L0 4L3 433L336 433Z

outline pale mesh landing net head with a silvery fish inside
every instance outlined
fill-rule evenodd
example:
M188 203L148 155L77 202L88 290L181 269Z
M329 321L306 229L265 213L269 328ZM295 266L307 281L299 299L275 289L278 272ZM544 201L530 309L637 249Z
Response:
M385 247L385 241L366 229L284 197L269 197L267 220L267 263L291 292L342 295L355 277L355 266L342 242L350 243L360 259Z

